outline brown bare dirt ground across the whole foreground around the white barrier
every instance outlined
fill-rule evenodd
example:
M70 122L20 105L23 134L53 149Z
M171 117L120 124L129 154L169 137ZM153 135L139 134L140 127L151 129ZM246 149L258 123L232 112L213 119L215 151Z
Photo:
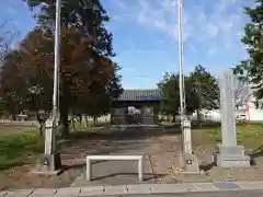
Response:
M122 136L123 135L123 136ZM211 166L211 153L215 144L202 141L197 132L193 134L193 149L197 154L205 174L185 175L176 174L173 169L178 167L181 153L181 137L176 132L162 132L159 135L140 134L144 139L140 143L147 144L145 152L150 158L152 173L156 175L156 183L193 183L193 182L231 182L231 181L259 181L263 179L263 158L255 157L255 165L248 169L219 169ZM37 187L68 187L83 172L84 155L89 153L108 154L124 149L119 144L115 147L113 140L136 140L136 135L118 134L81 134L64 143L61 149L62 164L65 172L59 176L32 175L35 161L27 165L16 166L12 170L0 173L0 190L9 188L37 188ZM111 144L111 146L110 146ZM114 148L114 149L113 149ZM132 150L133 151L133 150Z

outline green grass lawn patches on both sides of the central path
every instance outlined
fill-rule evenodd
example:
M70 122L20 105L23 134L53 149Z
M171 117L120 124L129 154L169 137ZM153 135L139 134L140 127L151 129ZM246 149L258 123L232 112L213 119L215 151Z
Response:
M164 124L165 125L165 124ZM99 129L103 125L83 128L77 125L77 130ZM92 129L93 128L93 129ZM91 130L90 130L91 129ZM178 135L178 130L169 131L169 134ZM238 124L237 138L239 144L247 148L256 149L263 146L263 124ZM193 129L194 143L216 144L221 142L221 134L219 126L202 127L198 130ZM34 163L36 155L43 153L44 140L39 137L38 131L18 131L18 132L0 132L0 171L20 166L23 164Z

